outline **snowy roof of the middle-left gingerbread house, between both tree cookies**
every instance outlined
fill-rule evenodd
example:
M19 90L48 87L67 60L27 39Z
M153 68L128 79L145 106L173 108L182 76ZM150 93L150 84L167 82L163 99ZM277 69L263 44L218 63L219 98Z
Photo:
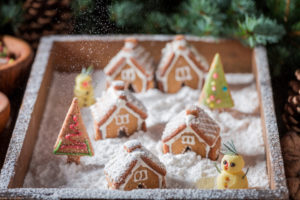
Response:
M130 91L124 89L123 81L113 81L101 98L96 98L91 112L99 125L105 123L119 106L126 106L142 119L147 118L147 109Z

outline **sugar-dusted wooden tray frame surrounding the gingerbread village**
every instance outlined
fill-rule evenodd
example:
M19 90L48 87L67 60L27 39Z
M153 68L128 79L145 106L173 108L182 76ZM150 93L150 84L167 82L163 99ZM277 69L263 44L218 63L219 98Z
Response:
M274 113L272 89L264 47L249 49L237 41L213 40L187 36L187 39L207 58L216 52L222 55L226 72L251 72L256 76L262 129L266 148L270 189L197 190L156 189L118 191L80 188L22 188L37 139L54 71L79 71L92 63L103 68L119 51L127 36L50 36L41 40L23 103L16 122L8 153L0 175L0 197L38 199L100 198L100 199L286 199L288 190L283 168L279 134ZM161 49L173 36L137 35L141 44L158 62Z

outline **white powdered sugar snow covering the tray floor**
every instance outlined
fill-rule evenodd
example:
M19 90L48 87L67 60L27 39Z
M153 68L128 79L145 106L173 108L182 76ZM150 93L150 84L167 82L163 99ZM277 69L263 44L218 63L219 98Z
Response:
M162 153L160 139L166 122L182 111L186 105L197 103L199 91L187 87L176 94L163 94L157 89L135 94L148 110L146 121L148 131L137 132L129 138L94 141L93 119L90 110L83 108L82 116L95 155L81 157L80 165L67 164L66 156L53 155L53 145L73 97L76 75L54 73L24 187L106 189L104 166L111 156L122 148L123 143L130 139L139 140L166 166L168 188L195 188L199 179L218 175L214 164L219 164L219 161L201 159L193 152L179 155ZM221 113L204 109L220 125L222 141L233 140L239 153L244 156L245 167L250 168L249 186L268 188L265 147L254 77L252 74L228 74L226 77L235 107ZM104 90L104 81L103 72L96 71L93 82L97 97L101 96Z

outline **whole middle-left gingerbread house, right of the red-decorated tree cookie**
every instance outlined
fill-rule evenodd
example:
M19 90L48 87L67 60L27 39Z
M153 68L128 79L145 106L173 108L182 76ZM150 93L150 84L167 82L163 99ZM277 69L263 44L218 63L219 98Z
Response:
M90 108L96 140L146 131L147 110L141 101L125 89L123 81L113 81Z

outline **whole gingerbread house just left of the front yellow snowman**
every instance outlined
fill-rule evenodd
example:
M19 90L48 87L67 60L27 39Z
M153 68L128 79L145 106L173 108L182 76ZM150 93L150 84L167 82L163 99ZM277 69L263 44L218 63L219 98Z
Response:
M164 153L194 151L203 158L216 160L221 145L220 128L204 110L188 106L167 123L162 142Z

